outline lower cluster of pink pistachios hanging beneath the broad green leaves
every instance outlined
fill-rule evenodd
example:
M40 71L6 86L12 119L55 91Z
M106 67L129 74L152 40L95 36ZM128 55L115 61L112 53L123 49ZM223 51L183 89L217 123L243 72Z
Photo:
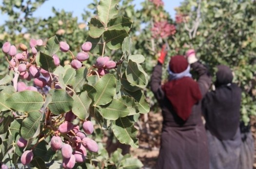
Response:
M51 139L52 150L61 150L63 157L62 166L64 169L72 169L76 162L84 162L87 150L98 152L97 143L86 136L86 134L93 133L93 123L91 121L84 121L82 125L83 132L80 131L78 125L72 123L75 118L76 115L74 113L66 113L65 122L59 125L59 129L56 131L60 135L67 135L71 140L62 141L58 134L54 135Z

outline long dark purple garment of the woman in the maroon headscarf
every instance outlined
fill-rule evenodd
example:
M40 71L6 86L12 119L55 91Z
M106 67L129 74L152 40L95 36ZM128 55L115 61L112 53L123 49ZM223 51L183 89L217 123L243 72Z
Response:
M191 67L199 74L197 83L202 96L207 93L211 77L199 62ZM207 136L201 119L201 101L183 121L161 89L162 65L158 64L151 77L151 90L162 109L161 147L156 169L209 169ZM184 105L186 106L186 105Z

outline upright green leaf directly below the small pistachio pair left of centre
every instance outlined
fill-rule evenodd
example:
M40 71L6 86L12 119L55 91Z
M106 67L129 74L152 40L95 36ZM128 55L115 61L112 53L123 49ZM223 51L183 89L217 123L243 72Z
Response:
M81 67L78 70L76 70L76 75L72 80L72 87L75 92L81 92L82 87L87 80L87 72L88 69L86 67Z

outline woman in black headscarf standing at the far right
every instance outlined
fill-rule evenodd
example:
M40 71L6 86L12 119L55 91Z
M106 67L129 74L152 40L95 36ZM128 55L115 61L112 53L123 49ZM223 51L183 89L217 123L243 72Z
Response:
M207 130L210 169L240 169L241 89L232 83L229 67L217 66L216 90L205 95L202 112Z

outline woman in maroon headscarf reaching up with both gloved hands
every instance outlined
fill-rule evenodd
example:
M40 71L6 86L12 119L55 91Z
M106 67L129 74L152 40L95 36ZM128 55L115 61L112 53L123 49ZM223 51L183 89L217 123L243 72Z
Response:
M207 93L211 77L197 61L195 51L184 56L172 56L169 81L161 85L162 64L166 52L161 52L151 77L151 90L162 109L161 147L156 169L209 169L207 137L201 119L201 99ZM199 78L191 78L190 66Z

